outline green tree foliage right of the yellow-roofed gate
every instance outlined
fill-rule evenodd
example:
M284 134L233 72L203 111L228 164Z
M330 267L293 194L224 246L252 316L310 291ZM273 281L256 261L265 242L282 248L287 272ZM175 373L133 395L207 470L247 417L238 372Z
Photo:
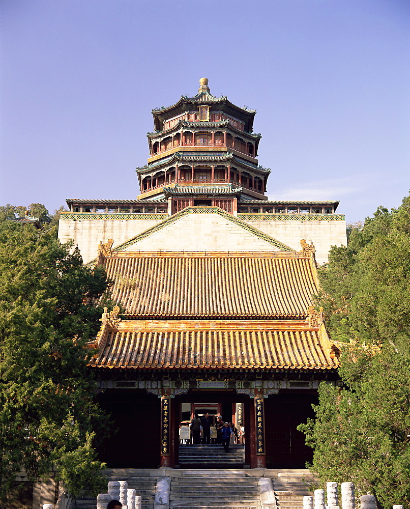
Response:
M332 338L346 347L343 388L320 384L316 419L299 427L314 449L313 469L322 482L373 492L383 507L408 506L410 196L352 229L348 246L333 247L320 272L318 303Z

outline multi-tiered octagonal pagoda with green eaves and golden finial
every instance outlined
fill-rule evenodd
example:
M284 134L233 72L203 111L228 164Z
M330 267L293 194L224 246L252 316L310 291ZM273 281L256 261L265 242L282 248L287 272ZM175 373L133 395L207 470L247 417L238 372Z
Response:
M256 111L213 96L208 79L198 93L153 109L148 164L136 169L142 201L168 200L168 213L189 206L237 212L239 200L266 201L269 168L258 165L261 135L253 132Z

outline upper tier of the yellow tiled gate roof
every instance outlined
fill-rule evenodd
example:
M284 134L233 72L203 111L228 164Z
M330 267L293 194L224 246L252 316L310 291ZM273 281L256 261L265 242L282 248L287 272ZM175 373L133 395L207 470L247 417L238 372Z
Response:
M305 318L318 291L314 261L292 253L113 252L104 264L135 318Z

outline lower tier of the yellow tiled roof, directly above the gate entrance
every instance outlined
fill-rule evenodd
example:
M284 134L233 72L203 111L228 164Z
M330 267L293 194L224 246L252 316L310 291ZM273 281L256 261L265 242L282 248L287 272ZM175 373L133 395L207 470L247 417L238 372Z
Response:
M307 321L133 321L100 337L94 367L330 370L327 334Z

